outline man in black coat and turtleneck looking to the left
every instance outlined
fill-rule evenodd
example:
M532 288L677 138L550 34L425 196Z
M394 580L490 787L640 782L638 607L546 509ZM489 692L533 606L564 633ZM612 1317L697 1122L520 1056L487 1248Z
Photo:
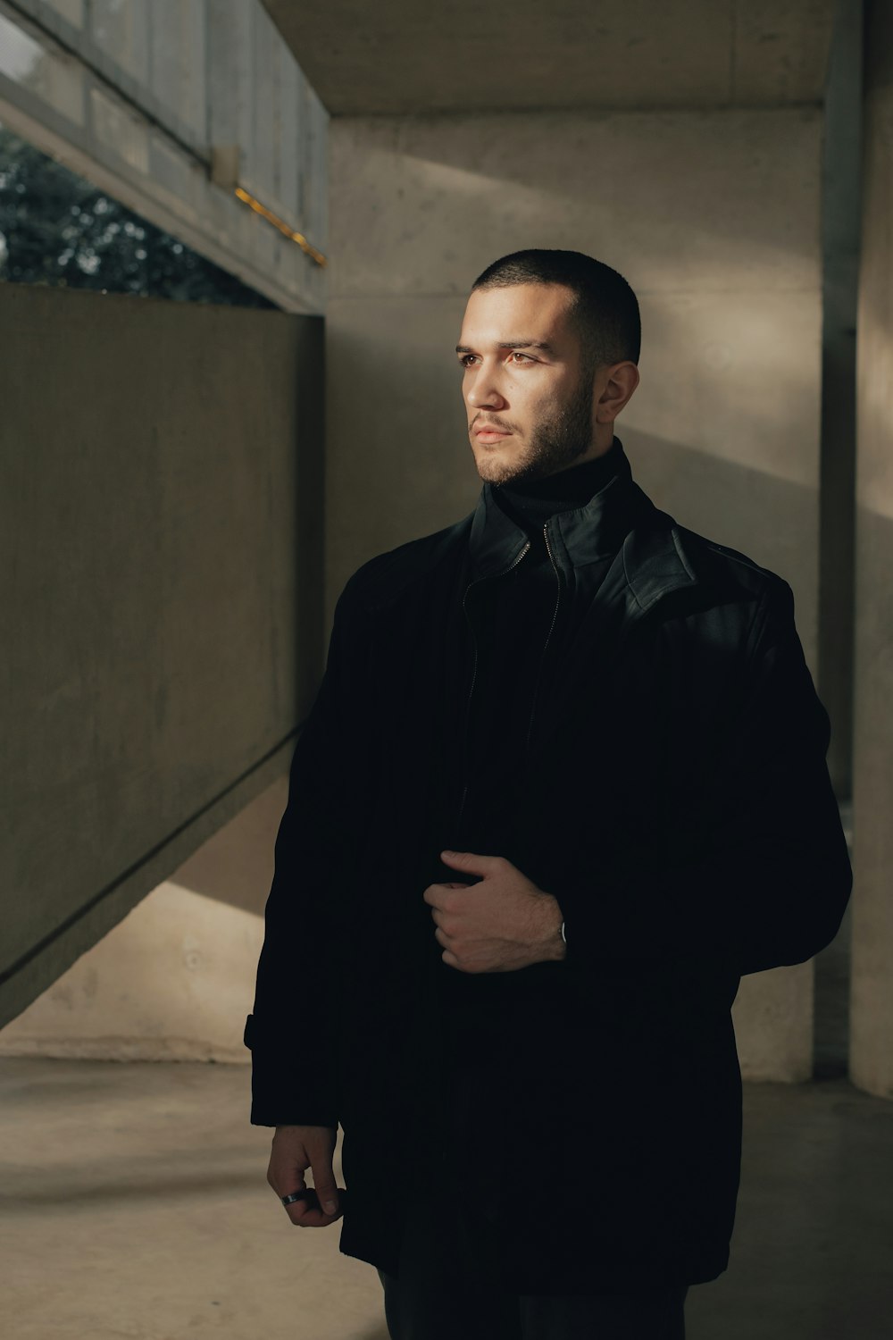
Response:
M475 280L478 504L348 580L295 750L252 1122L394 1340L683 1336L728 1264L740 976L851 887L791 588L633 482L639 352L592 257Z

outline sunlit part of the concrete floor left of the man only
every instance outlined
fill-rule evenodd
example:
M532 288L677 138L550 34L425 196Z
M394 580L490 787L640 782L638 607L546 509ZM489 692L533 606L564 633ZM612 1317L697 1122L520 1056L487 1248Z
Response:
M244 1065L1 1060L3 1333L387 1340L375 1270L289 1222L248 1111Z

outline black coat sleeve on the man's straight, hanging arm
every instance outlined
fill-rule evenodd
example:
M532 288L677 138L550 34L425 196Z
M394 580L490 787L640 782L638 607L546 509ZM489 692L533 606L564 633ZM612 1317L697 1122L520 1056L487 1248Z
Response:
M345 588L347 592L347 588ZM337 854L344 842L345 592L325 673L292 757L288 803L274 847L252 1013L254 1126L337 1127L340 1000Z

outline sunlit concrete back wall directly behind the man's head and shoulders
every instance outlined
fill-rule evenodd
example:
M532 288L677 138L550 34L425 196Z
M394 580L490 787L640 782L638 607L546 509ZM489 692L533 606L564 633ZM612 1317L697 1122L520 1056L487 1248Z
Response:
M643 315L617 422L684 525L794 588L817 674L821 138L813 109L331 123L327 631L367 557L467 513L453 346L469 285L522 247L619 269ZM744 978L747 1077L811 1073L813 965Z

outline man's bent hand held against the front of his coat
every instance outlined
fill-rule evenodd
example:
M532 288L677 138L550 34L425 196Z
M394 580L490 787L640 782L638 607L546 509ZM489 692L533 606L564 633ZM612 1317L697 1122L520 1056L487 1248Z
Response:
M428 884L440 955L462 973L511 973L530 963L561 959L561 909L505 856L442 851L444 866L483 875L477 884Z

